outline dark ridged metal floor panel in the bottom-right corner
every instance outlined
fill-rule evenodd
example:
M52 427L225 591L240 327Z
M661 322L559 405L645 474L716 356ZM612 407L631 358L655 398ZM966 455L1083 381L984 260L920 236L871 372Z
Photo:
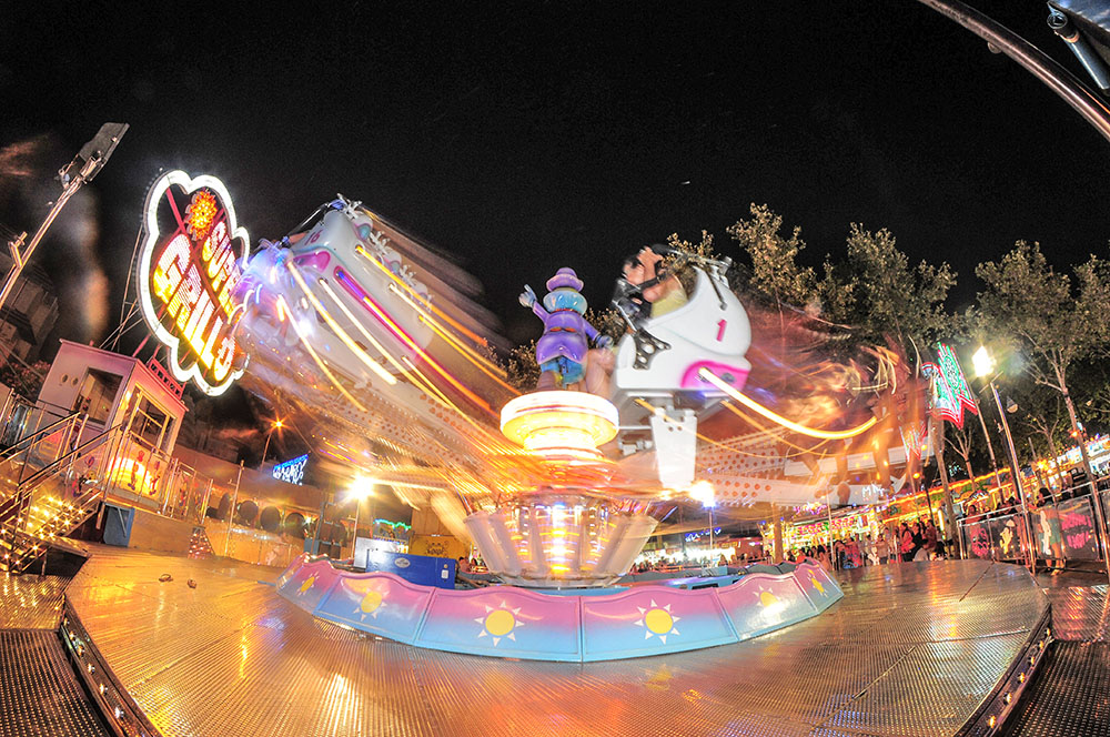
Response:
M1110 644L1054 643L1005 734L1110 737Z

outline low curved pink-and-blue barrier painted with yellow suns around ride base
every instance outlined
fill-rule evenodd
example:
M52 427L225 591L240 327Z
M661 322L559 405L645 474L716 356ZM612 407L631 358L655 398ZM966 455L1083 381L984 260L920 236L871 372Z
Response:
M738 643L816 616L844 596L811 561L781 569L748 573L720 588L645 585L582 595L417 586L301 556L278 579L278 592L321 619L417 647L586 663Z

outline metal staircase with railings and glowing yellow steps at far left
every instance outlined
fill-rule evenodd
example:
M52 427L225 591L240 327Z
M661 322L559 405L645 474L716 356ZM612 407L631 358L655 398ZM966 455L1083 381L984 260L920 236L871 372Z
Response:
M49 547L64 547L99 508L121 430L77 445L83 426L78 416L59 421L0 457L0 571L23 573Z

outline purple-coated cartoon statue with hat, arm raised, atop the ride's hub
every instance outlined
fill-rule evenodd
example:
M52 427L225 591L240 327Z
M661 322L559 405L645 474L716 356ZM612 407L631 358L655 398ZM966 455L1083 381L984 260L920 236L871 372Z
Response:
M586 322L586 297L578 293L582 280L573 269L564 266L547 280L547 295L543 304L536 293L525 284L521 304L532 307L544 321L544 334L536 343L536 362L539 364L538 390L568 387L585 377L586 354L589 343L608 347L613 339L602 335Z

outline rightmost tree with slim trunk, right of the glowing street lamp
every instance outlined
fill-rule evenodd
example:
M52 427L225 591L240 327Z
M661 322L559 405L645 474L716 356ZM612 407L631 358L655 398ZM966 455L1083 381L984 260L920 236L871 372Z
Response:
M998 335L1028 359L1025 373L1063 397L1072 431L1082 437L1068 388L1072 365L1103 351L1110 337L1107 264L1096 256L1074 269L1074 279L1059 274L1039 243L1018 241L999 263L976 267L986 290L979 293L981 334ZM1093 479L1087 444L1079 443L1083 468Z

